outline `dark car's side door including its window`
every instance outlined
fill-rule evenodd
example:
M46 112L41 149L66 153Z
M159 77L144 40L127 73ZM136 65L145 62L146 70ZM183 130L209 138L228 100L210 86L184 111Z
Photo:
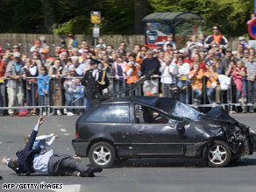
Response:
M158 110L135 104L132 124L132 153L134 155L181 155L188 137L177 132L181 120L169 119Z

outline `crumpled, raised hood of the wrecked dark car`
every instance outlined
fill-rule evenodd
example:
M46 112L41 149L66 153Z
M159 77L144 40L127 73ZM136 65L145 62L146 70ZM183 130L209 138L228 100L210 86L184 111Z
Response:
M225 122L230 124L238 124L238 121L231 117L222 107L212 108L206 114L200 114L199 119L215 120L218 122Z

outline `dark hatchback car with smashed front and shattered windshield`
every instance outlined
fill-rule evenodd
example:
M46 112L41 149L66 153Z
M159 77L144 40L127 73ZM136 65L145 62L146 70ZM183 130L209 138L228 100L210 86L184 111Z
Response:
M75 154L95 167L134 158L203 158L210 167L256 151L256 135L222 108L203 114L172 98L103 101L78 118Z

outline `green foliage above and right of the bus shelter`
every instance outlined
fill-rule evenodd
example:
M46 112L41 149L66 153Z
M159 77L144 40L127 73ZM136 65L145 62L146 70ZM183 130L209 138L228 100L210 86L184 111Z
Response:
M228 36L247 32L246 20L253 12L253 0L148 0L155 12L191 11L200 14L204 20L204 32L211 33L213 25Z

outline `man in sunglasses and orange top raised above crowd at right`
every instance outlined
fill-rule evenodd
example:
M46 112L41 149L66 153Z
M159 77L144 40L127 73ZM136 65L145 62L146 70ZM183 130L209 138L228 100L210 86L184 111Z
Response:
M226 39L221 33L219 33L218 27L215 25L212 27L212 34L208 36L204 41L204 47L209 49L216 42L219 48L226 49L229 46L228 39Z

